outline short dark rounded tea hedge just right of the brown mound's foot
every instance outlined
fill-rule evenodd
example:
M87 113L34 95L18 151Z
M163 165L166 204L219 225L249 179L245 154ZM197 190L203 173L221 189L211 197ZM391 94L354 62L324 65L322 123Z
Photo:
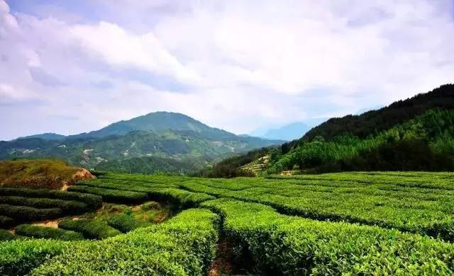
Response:
M148 200L145 192L131 192L125 190L111 190L104 188L94 188L89 186L77 185L68 188L74 192L87 192L93 195L99 195L106 202L115 203L140 203Z

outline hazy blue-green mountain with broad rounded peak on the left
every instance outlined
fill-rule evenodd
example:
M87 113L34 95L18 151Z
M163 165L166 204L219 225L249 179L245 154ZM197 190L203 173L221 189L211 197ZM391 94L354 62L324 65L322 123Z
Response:
M186 173L221 156L283 142L240 137L186 115L167 112L150 113L61 139L52 137L55 135L39 134L2 141L0 159L54 157L91 169Z

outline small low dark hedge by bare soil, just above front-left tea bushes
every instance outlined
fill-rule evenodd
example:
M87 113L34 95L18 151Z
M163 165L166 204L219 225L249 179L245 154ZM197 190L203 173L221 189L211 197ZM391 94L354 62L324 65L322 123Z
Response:
M30 224L21 224L15 228L16 234L29 236L32 238L53 238L62 241L82 240L82 234L64 229L50 228L45 226L36 226Z

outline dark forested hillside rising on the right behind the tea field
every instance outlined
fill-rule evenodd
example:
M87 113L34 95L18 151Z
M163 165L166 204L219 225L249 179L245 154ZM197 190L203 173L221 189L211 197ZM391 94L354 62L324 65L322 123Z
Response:
M226 176L244 168L267 173L454 171L454 84L361 115L331 118L300 139L226 159L213 171Z

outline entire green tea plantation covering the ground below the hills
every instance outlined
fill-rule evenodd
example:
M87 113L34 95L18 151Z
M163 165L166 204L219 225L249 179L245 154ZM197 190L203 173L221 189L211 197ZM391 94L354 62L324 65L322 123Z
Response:
M454 274L454 173L232 179L106 173L68 192L0 188L0 195L7 226L43 214L62 217L80 209L77 202L92 210L99 202L104 209L129 205L104 220L99 210L97 219L61 220L53 230L71 241L0 232L13 239L0 243L1 275ZM128 215L155 204L175 216L143 224L136 217L145 211ZM28 212L15 208L46 211L24 217ZM30 231L16 227L24 236Z

